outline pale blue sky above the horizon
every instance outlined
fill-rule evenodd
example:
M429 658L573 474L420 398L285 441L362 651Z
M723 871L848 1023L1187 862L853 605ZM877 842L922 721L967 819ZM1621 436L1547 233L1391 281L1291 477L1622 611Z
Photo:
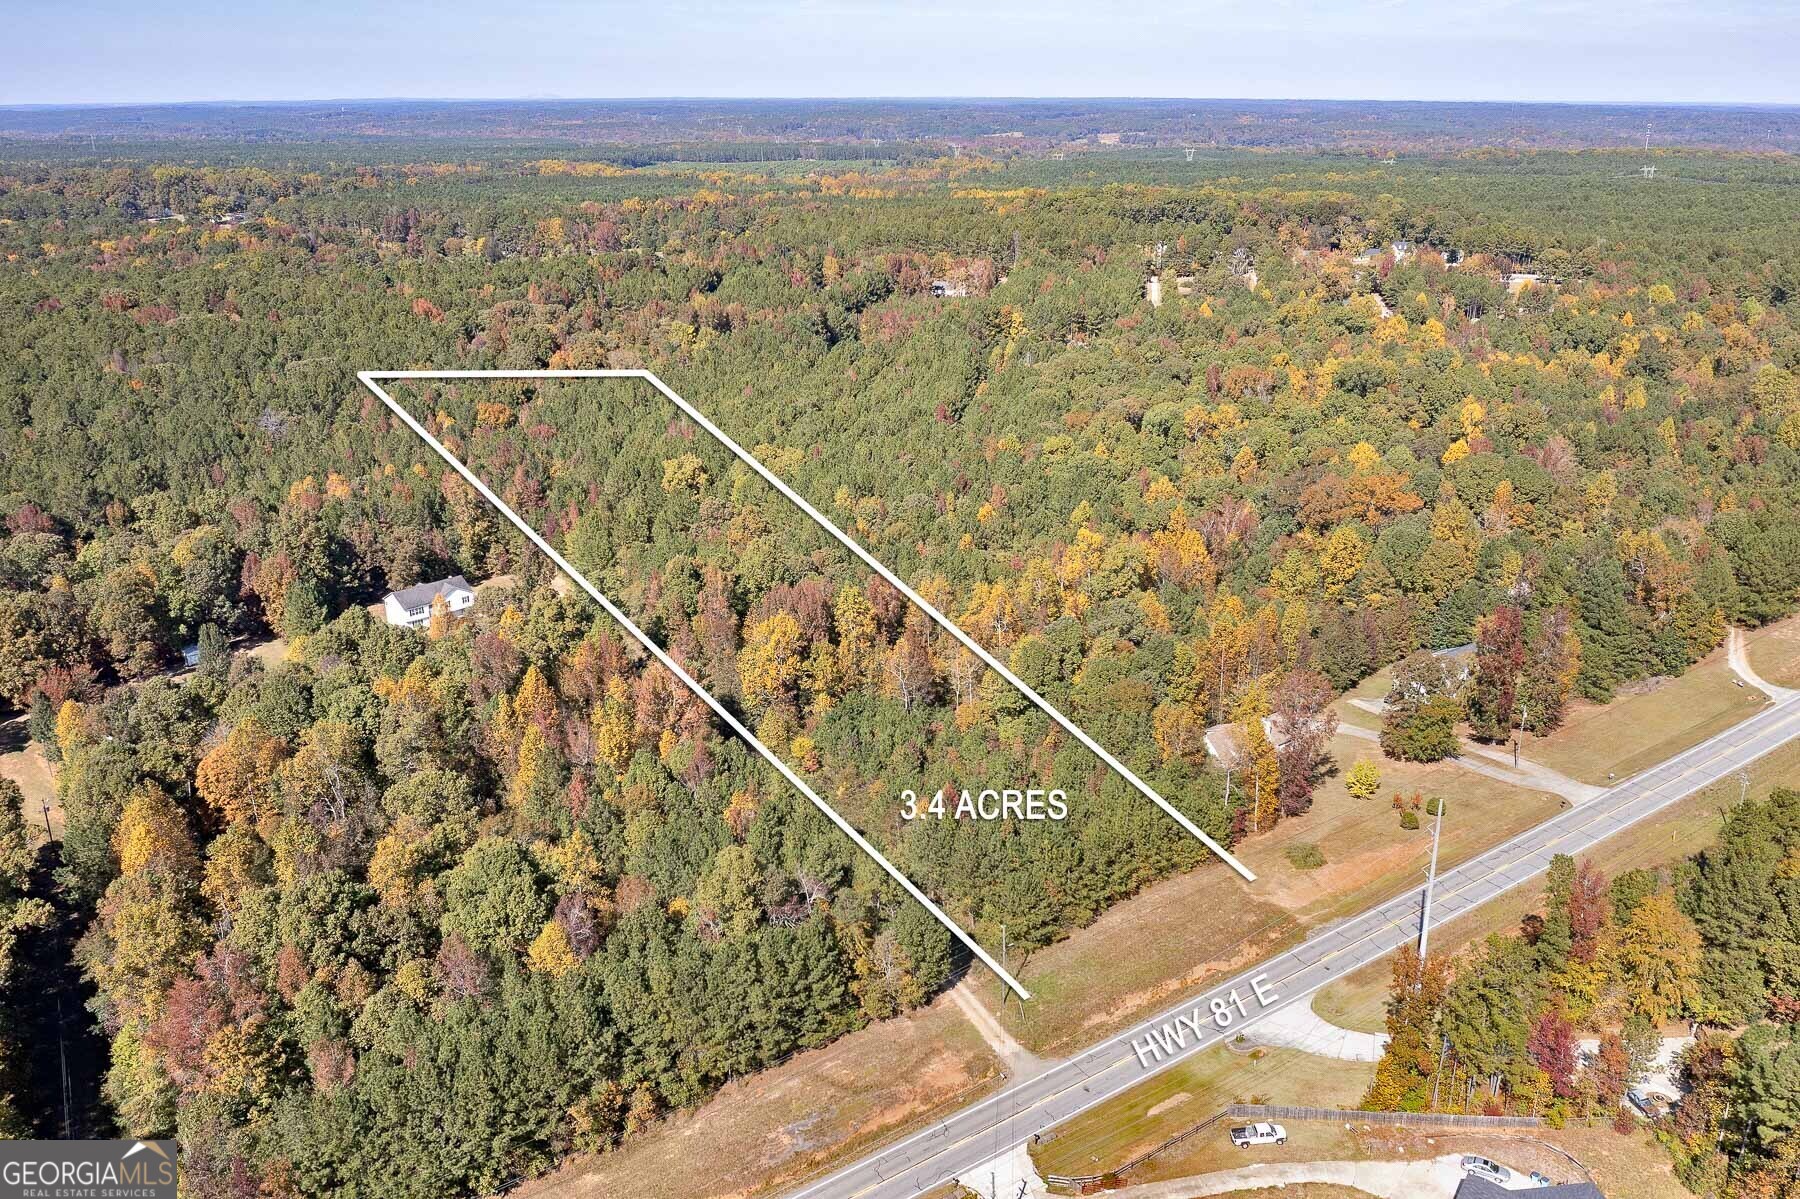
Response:
M0 103L1800 101L1793 0L11 0Z

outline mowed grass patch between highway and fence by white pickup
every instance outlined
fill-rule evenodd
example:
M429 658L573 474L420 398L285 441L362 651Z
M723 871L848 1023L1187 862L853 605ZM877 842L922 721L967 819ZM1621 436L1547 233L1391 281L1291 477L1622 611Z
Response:
M1375 1068L1368 1062L1337 1062L1298 1050L1235 1053L1213 1046L1082 1113L1039 1143L1031 1158L1040 1176L1103 1174L1192 1129L1226 1104L1354 1107L1373 1077ZM1224 1143L1224 1122L1193 1140Z

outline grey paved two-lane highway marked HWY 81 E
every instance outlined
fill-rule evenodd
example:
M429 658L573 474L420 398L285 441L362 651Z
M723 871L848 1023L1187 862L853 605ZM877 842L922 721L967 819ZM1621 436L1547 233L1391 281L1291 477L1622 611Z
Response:
M1579 855L1800 735L1800 699L1750 717L1661 765L1566 808L1505 844L1438 875L1436 927L1534 879L1557 853ZM1456 819L1454 796L1447 819ZM911 1199L992 1161L1069 1116L1152 1073L1235 1037L1247 1024L1418 936L1422 893L1413 891L1314 933L1300 945L1229 978L1197 999L1129 1028L1046 1073L808 1183L790 1199ZM1229 918L1220 913L1217 918ZM1127 947L1129 949L1129 947Z

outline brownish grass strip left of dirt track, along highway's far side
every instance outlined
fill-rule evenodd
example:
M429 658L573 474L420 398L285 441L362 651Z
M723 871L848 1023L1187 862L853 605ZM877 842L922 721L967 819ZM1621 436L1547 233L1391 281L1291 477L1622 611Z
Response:
M725 1086L695 1113L657 1123L603 1156L571 1158L517 1195L558 1199L740 1199L787 1190L1001 1086L999 1060L940 996Z

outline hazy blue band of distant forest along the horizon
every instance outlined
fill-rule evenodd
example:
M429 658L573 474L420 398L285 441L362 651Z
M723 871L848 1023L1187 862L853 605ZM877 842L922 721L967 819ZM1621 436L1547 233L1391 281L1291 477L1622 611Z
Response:
M1247 99L351 99L0 106L0 137L337 142L369 139L616 144L790 142L857 157L882 144L1042 149L1116 135L1123 146L1447 153L1480 146L1800 149L1789 104L1555 104ZM1098 142L1094 142L1098 144ZM857 149L864 148L864 149ZM848 151L848 153L846 153ZM657 153L657 151L650 151ZM754 153L754 151L745 151ZM808 155L803 157L810 157ZM833 155L824 155L833 157Z

